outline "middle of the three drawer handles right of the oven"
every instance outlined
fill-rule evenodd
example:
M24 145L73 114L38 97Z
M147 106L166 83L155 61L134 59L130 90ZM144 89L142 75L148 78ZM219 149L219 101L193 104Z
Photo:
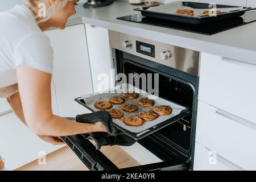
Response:
M256 124L255 123L247 121L246 119L240 118L240 117L238 117L238 116L236 116L234 114L230 114L230 113L228 113L228 112L226 112L224 110L221 110L221 109L217 109L216 110L216 114L222 115L223 117L229 118L232 121L236 121L236 122L240 123L243 126L246 126L246 127L249 127L251 129L256 130Z

